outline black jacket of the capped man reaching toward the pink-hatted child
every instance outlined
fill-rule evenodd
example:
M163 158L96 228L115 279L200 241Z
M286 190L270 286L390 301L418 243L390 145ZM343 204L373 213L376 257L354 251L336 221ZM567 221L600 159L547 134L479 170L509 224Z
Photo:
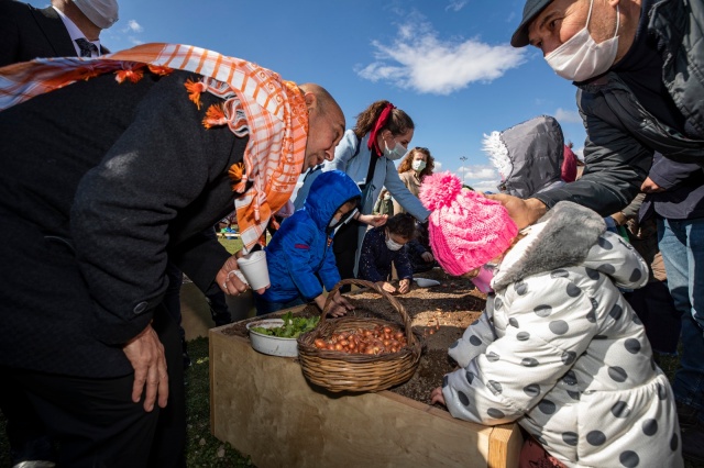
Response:
M644 14L684 129L704 135L704 2L659 0ZM580 83L576 101L587 132L586 170L575 182L537 194L548 208L571 200L605 216L622 210L638 194L654 152L704 165L704 140L654 118L617 73Z

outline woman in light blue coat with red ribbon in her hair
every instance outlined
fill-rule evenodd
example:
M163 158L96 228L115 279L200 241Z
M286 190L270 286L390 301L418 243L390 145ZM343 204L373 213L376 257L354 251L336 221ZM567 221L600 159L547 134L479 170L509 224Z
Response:
M382 188L386 187L408 213L426 221L430 212L402 182L394 163L406 154L414 129L414 121L406 112L388 101L376 101L358 115L354 127L345 132L334 158L324 163L322 171L341 170L358 183L362 190L362 214L372 213ZM312 172L306 178L297 200L305 197L311 182L308 179L315 179L315 176ZM383 223L385 219L380 221ZM336 234L334 254L343 279L356 277L356 261L366 227L350 222Z

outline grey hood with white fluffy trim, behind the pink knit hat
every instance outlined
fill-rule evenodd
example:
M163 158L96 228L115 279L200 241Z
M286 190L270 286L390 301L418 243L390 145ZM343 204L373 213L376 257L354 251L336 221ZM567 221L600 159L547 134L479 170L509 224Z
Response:
M484 152L498 170L498 190L530 198L561 187L564 138L557 120L540 115L484 137Z

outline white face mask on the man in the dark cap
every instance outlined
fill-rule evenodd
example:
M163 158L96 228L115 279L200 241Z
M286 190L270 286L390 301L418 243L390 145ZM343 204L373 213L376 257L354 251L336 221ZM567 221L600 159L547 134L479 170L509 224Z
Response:
M620 18L616 5L616 32L614 37L596 44L590 34L587 26L592 18L592 7L586 16L586 24L579 33L570 37L560 47L546 56L548 65L562 78L572 81L584 81L608 70L614 64L618 49L618 26Z

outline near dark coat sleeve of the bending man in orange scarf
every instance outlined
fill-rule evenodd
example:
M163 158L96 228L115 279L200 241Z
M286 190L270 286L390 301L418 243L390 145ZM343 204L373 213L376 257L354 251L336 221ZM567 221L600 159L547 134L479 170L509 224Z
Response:
M76 191L70 233L95 302L92 333L107 344L128 342L152 320L166 289L169 224L230 157L234 135L205 131L184 91L185 76L173 74L152 87L132 124ZM222 250L201 261L222 266Z

